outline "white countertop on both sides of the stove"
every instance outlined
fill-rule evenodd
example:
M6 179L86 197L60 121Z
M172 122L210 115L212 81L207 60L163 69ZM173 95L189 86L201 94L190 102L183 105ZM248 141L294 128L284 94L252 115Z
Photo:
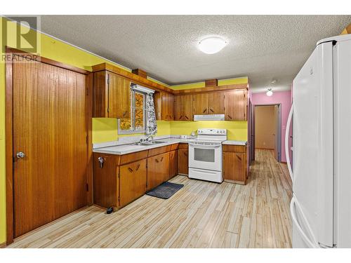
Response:
M159 139L159 141L162 141L164 143L147 145L147 146L133 145L133 144L120 144L120 145L94 148L93 152L100 152L102 154L123 155L123 154L130 154L132 152L145 151L148 149L154 149L157 147L176 144L176 143L180 143L180 142L187 143L187 142L190 142L191 140L193 140L193 139L180 139L180 138L168 137L168 138L160 138ZM223 144L246 145L246 141L227 140L227 141L223 142Z

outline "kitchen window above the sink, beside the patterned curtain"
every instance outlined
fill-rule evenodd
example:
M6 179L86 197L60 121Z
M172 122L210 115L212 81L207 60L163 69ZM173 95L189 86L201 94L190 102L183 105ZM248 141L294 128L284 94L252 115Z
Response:
M131 88L131 116L128 119L119 119L118 134L145 133L146 131L146 95Z

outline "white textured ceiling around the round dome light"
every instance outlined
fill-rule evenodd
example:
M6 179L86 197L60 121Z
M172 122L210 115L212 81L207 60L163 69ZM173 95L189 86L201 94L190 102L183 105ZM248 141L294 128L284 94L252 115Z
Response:
M43 15L41 30L169 85L249 76L258 92L289 89L316 42L350 22L351 15ZM197 48L205 36L228 44L206 55Z

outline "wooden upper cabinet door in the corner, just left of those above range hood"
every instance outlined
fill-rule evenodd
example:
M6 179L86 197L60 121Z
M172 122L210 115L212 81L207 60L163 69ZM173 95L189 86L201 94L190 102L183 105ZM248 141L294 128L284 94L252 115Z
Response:
M174 99L175 121L192 121L192 95L178 95Z

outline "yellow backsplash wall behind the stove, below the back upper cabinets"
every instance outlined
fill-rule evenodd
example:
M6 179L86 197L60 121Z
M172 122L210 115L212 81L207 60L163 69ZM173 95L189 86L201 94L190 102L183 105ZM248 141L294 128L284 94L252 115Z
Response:
M247 121L171 121L172 135L190 135L199 128L223 128L228 140L247 140Z

